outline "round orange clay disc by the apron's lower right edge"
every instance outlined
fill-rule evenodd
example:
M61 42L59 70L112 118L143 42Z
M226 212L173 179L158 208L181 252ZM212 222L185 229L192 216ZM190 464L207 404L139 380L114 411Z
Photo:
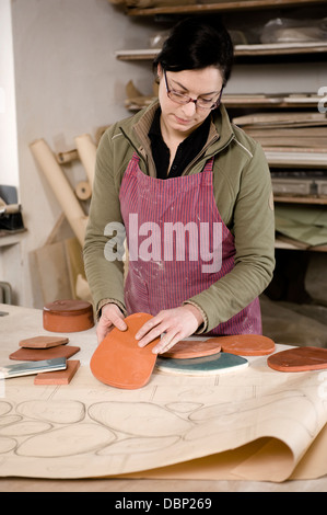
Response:
M223 352L238 356L266 356L275 351L275 342L261 334L220 336L219 342Z

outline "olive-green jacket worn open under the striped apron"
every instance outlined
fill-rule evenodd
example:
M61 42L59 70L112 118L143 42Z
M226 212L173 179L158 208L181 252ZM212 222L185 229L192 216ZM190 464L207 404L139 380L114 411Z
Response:
M148 133L157 101L103 135L96 156L89 224L84 243L85 274L100 316L104 304L113 301L126 313L124 263L108 261L105 245L109 222L122 224L119 188L133 154L140 157L143 173L155 178ZM184 171L200 173L215 156L213 193L218 210L235 238L235 266L200 294L185 299L205 317L201 332L229 320L258 297L272 278L275 267L275 215L270 172L265 153L254 139L231 124L223 105L212 112L208 140L202 151Z

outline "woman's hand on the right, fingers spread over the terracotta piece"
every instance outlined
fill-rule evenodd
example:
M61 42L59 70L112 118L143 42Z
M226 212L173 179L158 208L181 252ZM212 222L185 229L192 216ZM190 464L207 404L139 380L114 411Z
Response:
M165 309L149 322L145 322L136 334L136 339L139 340L139 346L144 347L148 343L165 333L160 343L152 350L154 354L162 354L184 337L194 334L201 323L203 323L203 317L194 305Z

